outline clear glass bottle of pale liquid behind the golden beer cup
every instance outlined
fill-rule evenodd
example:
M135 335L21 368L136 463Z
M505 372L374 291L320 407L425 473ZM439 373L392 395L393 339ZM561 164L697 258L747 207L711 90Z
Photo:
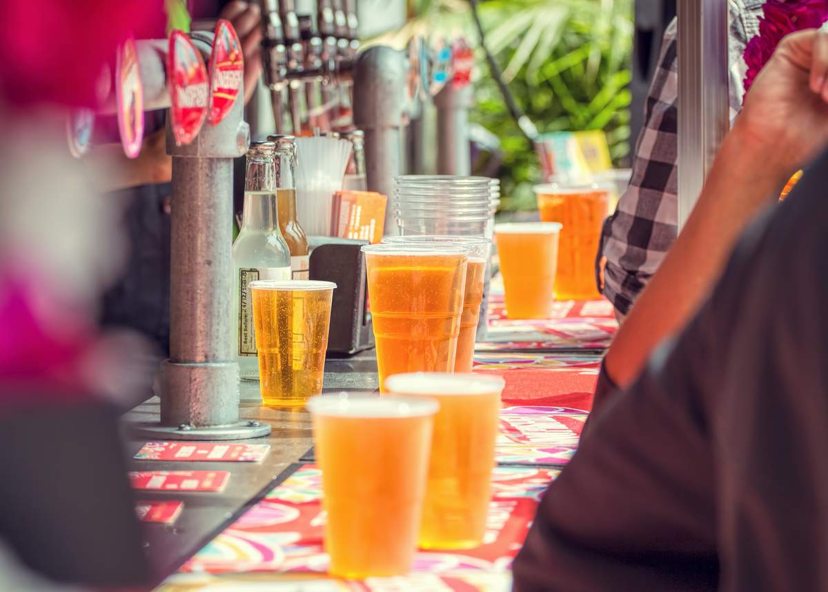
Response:
M275 161L276 144L251 143L242 227L233 242L233 354L242 380L258 380L250 283L291 279L291 253L279 228Z

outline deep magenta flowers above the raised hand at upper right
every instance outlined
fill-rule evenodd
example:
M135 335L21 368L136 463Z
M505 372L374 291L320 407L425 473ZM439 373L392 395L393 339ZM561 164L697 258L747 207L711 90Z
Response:
M744 61L748 70L744 77L747 94L753 80L762 71L784 36L804 29L815 29L828 20L828 0L768 0L759 18L759 34L748 42Z

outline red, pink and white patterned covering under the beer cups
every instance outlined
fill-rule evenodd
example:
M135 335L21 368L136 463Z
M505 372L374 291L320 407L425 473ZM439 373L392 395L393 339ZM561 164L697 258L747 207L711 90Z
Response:
M320 470L298 467L161 585L163 592L508 592L510 566L537 503L578 445L604 350L618 324L608 301L558 302L549 320L509 320L493 280L489 339L474 372L506 380L489 532L472 551L419 551L412 574L331 579L322 546ZM311 451L312 453L312 451ZM306 458L312 459L312 454Z

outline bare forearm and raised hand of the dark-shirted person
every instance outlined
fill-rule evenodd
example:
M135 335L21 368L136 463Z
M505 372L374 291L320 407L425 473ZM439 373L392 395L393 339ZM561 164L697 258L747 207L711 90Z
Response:
M826 70L828 35L801 31L782 41L753 84L685 228L607 353L619 387L686 324L744 226L828 141Z

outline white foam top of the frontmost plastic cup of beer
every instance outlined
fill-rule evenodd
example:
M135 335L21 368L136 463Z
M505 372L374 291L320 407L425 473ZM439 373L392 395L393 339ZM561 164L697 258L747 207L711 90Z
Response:
M434 415L440 409L440 403L413 397L354 396L340 392L338 395L311 397L307 408L314 415L320 416L382 419Z

